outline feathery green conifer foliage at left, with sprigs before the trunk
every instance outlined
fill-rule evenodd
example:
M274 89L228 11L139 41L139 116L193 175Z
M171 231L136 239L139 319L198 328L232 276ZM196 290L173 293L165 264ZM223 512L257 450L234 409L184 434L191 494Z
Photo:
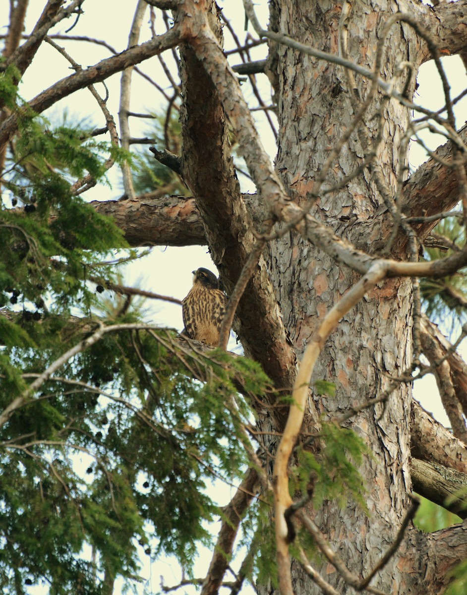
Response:
M8 76L0 84L19 114ZM160 119L158 126L162 134ZM176 130L175 118L170 126ZM191 575L220 513L212 481L240 481L250 464L252 404L273 400L255 362L197 353L171 331L125 327L142 321L139 309L89 283L117 282L137 256L122 252L120 231L73 190L76 179L105 179L109 155L127 158L86 127L52 126L22 108L2 174L11 203L4 195L0 207L0 415L20 403L0 425L5 592L45 582L57 595L103 593L109 577L129 583L137 575L140 547L176 556ZM156 170L139 181L177 192L177 177L151 160ZM29 394L67 350L111 324L123 326L62 361ZM316 386L320 394L335 388ZM363 442L332 424L322 440L319 460L297 453L293 491L303 493L312 475L317 505L344 493L363 503L353 466ZM270 513L271 503L253 504L243 531L258 550L250 578L277 584Z

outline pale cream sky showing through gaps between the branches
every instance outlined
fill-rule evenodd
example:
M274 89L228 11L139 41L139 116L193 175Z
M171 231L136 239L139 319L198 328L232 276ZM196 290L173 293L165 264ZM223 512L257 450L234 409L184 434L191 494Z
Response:
M8 23L8 5L6 0L0 2L0 24ZM42 12L45 1L33 0L30 2L27 15L27 32L30 32L34 26L37 17ZM245 15L243 12L242 3L239 0L225 0L219 2L221 7L224 7L224 15L236 29L237 35L243 40L245 33L243 32L245 24ZM267 24L267 1L258 0L256 2L256 10L258 17L263 26ZM105 39L107 43L113 46L117 52L126 49L128 33L130 30L131 21L133 20L133 12L136 7L136 0L128 2L123 0L98 0L84 2L84 14L80 17L77 26L70 32L70 35L83 35L96 39ZM162 33L165 30L164 23L159 17L159 12L156 11L156 30ZM51 33L64 33L72 20L66 21L64 24L59 24ZM250 29L251 31L251 29ZM3 27L0 33L4 34L6 28ZM230 35L227 29L224 28L225 35L225 49L233 48ZM145 21L142 27L140 42L145 41L151 37L151 30L149 29L149 8L146 11ZM256 37L256 36L255 36ZM64 45L64 42L58 41L59 45ZM99 60L108 58L110 52L102 46L95 43L87 42L67 42L65 48L71 57L74 58L83 68L88 65L95 64ZM253 48L251 55L253 60L259 60L265 57L267 46L259 46ZM164 54L164 58L168 64L173 67L174 63L171 59L170 52ZM240 58L238 55L230 57L230 64L238 64ZM465 68L458 57L444 58L444 67L447 71L450 84L452 86L452 96L456 96L463 89L467 87L467 77ZM165 77L162 68L156 57L139 65L139 68L145 73L149 74L162 87L169 90L170 83ZM23 82L20 85L20 94L24 99L31 99L37 93L41 92L48 86L51 86L57 80L69 76L71 73L69 64L65 61L58 52L46 43L40 47L37 55L27 70ZM174 69L175 73L175 69ZM175 74L176 76L176 74ZM264 75L257 76L258 83L264 81L265 87L268 87L267 79ZM416 102L424 105L430 109L438 109L443 105L443 95L441 85L439 83L438 75L432 64L427 64L422 67L418 77L419 89ZM109 89L108 107L114 115L118 127L118 102L120 93L120 74L114 75L106 80L106 85ZM105 95L104 86L102 84L96 85L96 88L102 95ZM249 84L243 84L243 91L250 101L250 105L255 107L256 100L252 100L252 92ZM270 97L268 93L264 93L264 101L268 104ZM90 118L95 126L103 126L103 116L100 112L95 99L92 98L89 91L84 89L80 92L74 93L69 98L62 99L51 109L45 112L46 117L51 120L59 119L64 109L68 110L70 121L73 119ZM163 112L165 109L165 100L160 93L139 74L133 72L132 86L131 86L131 107L133 112L145 112L147 109L153 112ZM466 102L463 101L456 108L457 114L457 129L459 129L464 121L466 114ZM275 142L274 137L265 124L264 115L261 112L255 112L256 120L258 121L259 131L262 134L264 146L269 149L271 158L275 156ZM138 120L137 118L130 118L130 130L134 137L146 136L148 133L148 121ZM430 148L434 149L437 145L444 142L442 137L438 139L431 139ZM149 149L148 149L149 151ZM410 164L413 168L418 167L421 162L425 161L426 156L418 147L411 150ZM112 188L99 184L92 190L86 193L85 198L89 200L109 200L117 199L123 193L120 183L120 176L116 168L112 168L109 175ZM253 191L252 186L247 186L245 180L242 182L243 191ZM8 203L8 201L7 201ZM206 267L215 270L212 264L206 247L190 246L187 248L153 248L152 254L138 261L126 268L125 283L148 289L156 293L164 295L175 296L183 298L189 291L192 284L191 271L198 267ZM180 306L169 304L165 302L146 302L148 308L149 320L156 324L169 326L181 330L183 322L181 321ZM446 331L446 330L445 330ZM466 353L463 353L466 356ZM330 379L331 380L331 379ZM446 414L440 403L437 388L435 386L434 378L430 375L415 383L414 393L427 411L434 412L435 417L443 424L449 426ZM225 490L225 502L230 499L230 488ZM214 527L214 531L216 527ZM200 569L196 574L203 575L205 570ZM158 590L159 575L164 575L166 584L174 584L180 580L178 569L171 560L162 560L152 565L145 567L146 577L149 578L149 590Z

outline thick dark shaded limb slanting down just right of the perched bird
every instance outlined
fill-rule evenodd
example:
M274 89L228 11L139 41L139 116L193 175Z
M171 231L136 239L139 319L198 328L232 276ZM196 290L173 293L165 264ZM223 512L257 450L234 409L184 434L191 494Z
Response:
M189 16L180 16L183 27L186 27L183 36L190 39L190 46L182 46L180 50L184 80L181 115L183 176L196 195L209 248L225 289L230 293L252 252L255 237L253 221L240 194L231 161L228 129L219 95L219 88L224 85L206 72L205 42L215 46L216 59L221 60L222 68L224 65L228 68L218 40L209 27L218 27L217 15L212 14L207 4L185 2L183 10ZM234 77L231 70L230 74ZM247 355L262 364L275 384L292 386L296 358L287 342L262 258L240 300L234 328Z

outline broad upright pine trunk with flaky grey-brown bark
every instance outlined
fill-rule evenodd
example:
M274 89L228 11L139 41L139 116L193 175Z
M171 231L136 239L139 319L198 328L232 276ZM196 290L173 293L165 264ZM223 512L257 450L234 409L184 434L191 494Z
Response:
M387 4L353 3L349 54L370 69L375 60L378 33L391 15L383 5ZM277 15L281 33L336 54L340 9L340 4L334 2L283 0L274 2L273 14ZM399 62L413 61L416 48L413 32L405 25L394 26L385 45L385 79L393 76ZM314 188L330 147L339 142L352 121L351 89L341 67L314 60L286 46L279 46L277 54L280 131L276 167L292 198L304 203L307 192ZM361 78L357 82L363 97L368 92L369 82ZM415 78L409 83L409 96L414 83ZM377 93L369 114L373 114L383 101L383 96ZM391 196L396 192L398 168L406 165L406 155L400 162L398 152L408 115L408 110L395 101L386 103L382 111L384 142L378 148L377 160ZM370 121L369 134L374 141L378 120L372 123ZM357 134L352 135L347 146L331 169L325 186L336 184L361 165L366 147L362 148ZM333 227L339 236L374 253L375 246L381 248L384 245L383 238L387 235L390 215L385 211L383 199L371 174L366 171L344 189L321 194L311 212ZM358 275L336 267L328 256L303 241L296 232L270 244L268 265L284 324L300 356L316 324L355 284ZM385 281L350 311L331 335L319 358L314 380L322 378L335 383L336 396L314 395L310 403L324 418L377 396L387 386L388 377L397 376L409 367L412 355L411 289L407 279ZM385 411L383 406L376 406L347 422L348 427L365 440L372 453L365 456L359 469L368 488L369 516L352 500L345 508L341 508L339 502L325 502L315 512L317 524L346 560L347 567L361 576L368 574L390 546L410 505L409 411L410 390L402 385L391 396ZM399 552L390 560L372 586L392 592L394 585L398 585L396 592L408 592L410 575L400 564L401 555ZM317 569L340 593L347 592L342 578L332 566L324 563ZM303 581L299 568L293 571L293 578L296 593L302 590L301 585L308 594L321 592L308 579Z

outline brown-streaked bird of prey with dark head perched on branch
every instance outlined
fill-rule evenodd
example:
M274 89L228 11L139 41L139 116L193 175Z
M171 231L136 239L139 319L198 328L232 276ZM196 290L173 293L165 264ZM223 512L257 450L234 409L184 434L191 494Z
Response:
M227 296L219 289L215 274L207 268L192 273L193 287L181 302L185 333L190 339L216 347Z

